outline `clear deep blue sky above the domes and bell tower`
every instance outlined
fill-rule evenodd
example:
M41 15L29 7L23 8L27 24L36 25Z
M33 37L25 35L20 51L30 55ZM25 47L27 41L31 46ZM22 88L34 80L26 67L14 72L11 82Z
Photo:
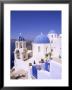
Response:
M19 33L26 39L33 39L41 32L50 30L61 33L61 11L11 11L11 38Z

